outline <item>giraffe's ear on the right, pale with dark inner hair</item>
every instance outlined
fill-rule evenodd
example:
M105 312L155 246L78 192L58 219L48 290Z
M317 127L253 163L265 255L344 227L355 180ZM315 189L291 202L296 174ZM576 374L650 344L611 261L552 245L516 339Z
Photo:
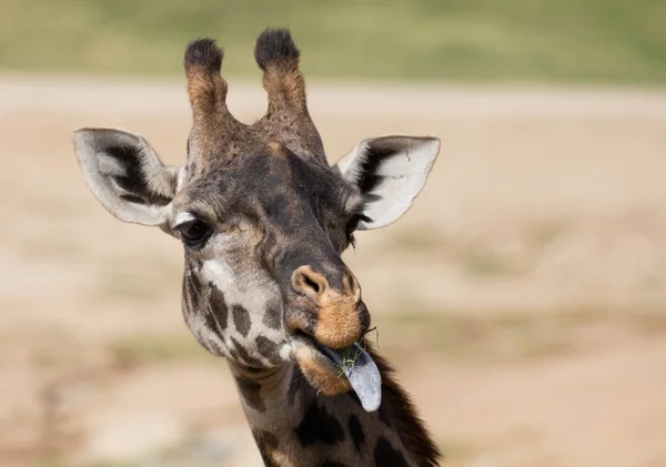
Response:
M362 141L335 167L365 196L359 230L397 221L418 195L440 152L437 138L382 136Z

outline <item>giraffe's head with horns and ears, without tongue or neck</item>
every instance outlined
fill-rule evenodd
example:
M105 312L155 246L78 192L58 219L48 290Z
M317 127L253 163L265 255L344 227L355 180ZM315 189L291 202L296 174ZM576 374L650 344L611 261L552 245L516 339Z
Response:
M244 368L294 362L316 389L335 395L351 387L340 355L359 351L371 323L341 254L356 230L407 211L440 141L369 139L330 166L299 55L286 30L260 35L269 105L246 125L225 104L222 51L212 40L190 43L193 123L180 167L122 130L80 129L73 142L90 190L111 214L182 241L183 314L201 345Z

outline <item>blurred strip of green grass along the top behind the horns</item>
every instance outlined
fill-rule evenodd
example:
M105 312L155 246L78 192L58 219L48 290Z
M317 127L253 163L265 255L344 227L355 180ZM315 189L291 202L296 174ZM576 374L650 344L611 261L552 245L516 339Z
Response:
M666 83L663 0L0 0L0 70L180 73L216 38L231 74L287 26L310 75Z

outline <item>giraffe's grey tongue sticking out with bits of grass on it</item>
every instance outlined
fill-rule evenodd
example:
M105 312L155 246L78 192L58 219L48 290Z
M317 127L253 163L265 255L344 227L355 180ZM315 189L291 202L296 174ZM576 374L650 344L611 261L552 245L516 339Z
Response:
M359 344L342 349L324 346L321 348L344 372L365 412L374 412L380 408L382 375L367 352Z

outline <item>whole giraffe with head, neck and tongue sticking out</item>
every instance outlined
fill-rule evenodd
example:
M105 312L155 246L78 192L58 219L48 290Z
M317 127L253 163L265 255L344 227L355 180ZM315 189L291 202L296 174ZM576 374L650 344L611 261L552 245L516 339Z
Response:
M261 119L233 118L222 50L198 39L184 57L185 163L163 164L139 134L82 128L72 140L87 184L113 216L182 242L184 321L226 358L266 466L437 466L410 396L364 338L370 313L341 254L355 231L410 209L440 140L367 139L331 166L289 30L266 29L254 54Z

